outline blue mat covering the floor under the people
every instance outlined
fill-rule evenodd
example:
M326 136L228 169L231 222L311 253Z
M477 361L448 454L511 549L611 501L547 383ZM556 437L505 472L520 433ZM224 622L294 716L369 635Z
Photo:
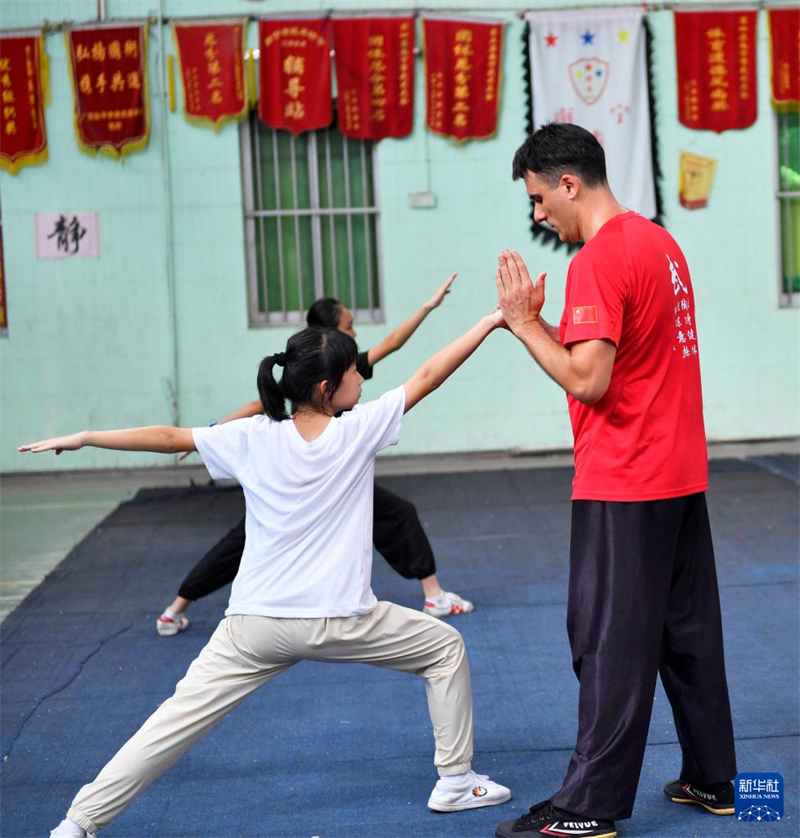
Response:
M796 836L797 458L712 463L709 506L722 591L740 771L777 771L780 823L739 823L662 794L680 751L660 687L633 818L620 836ZM425 806L436 780L419 679L303 663L226 717L107 829L109 838L491 838L560 785L575 741L577 682L565 631L571 472L386 478L415 502L443 584L476 602L457 618L470 655L475 768L511 787L504 806ZM0 834L45 836L78 788L168 697L222 616L154 621L183 575L236 522L241 494L150 490L121 505L2 626ZM379 598L421 605L376 557Z

